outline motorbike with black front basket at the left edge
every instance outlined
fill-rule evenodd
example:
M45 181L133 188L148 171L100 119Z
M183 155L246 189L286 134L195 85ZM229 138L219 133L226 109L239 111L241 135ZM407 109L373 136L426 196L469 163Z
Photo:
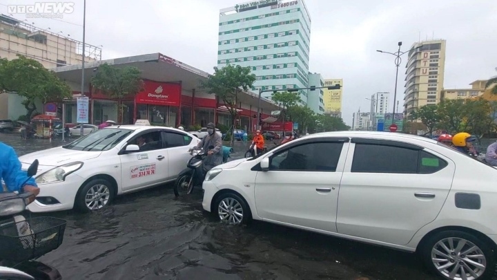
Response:
M28 169L29 178L35 176L37 169L38 160L35 160ZM62 279L57 269L35 259L59 248L64 240L66 221L51 217L25 218L21 212L32 196L29 192L0 193L0 279Z

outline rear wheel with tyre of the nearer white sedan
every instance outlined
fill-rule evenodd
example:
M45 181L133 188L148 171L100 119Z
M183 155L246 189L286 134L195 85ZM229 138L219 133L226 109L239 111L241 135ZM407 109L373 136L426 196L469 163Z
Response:
M423 244L422 261L444 279L491 279L496 259L490 245L473 234L438 232Z

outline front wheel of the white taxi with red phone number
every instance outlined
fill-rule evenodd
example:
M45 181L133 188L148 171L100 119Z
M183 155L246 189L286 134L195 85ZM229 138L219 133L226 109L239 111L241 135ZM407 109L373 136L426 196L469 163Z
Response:
M108 180L90 180L78 192L75 207L80 212L91 212L107 207L113 199L113 185Z

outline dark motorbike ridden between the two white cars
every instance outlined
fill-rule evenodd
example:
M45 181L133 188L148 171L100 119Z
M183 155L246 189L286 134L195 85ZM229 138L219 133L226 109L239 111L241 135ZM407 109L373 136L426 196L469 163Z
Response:
M209 146L208 149L214 149L214 146ZM189 152L192 158L186 162L186 169L179 173L174 185L176 197L180 194L191 194L195 185L202 185L206 175L202 163L207 156L207 151L191 149Z

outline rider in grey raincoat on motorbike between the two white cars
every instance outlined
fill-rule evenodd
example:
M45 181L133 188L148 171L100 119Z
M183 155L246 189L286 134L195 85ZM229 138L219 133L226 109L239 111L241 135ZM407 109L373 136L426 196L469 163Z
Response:
M214 146L214 149L208 149L209 146ZM222 139L219 134L215 133L215 125L212 122L207 124L207 136L202 138L197 144L197 148L203 148L204 151L207 151L207 156L202 164L205 174L213 167L222 164Z

